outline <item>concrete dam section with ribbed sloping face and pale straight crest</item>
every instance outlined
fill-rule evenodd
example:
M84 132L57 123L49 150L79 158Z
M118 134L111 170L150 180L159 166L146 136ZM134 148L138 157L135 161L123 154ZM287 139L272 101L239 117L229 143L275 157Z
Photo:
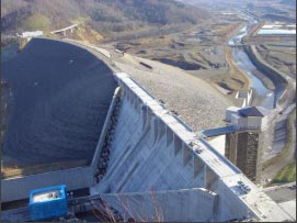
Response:
M126 74L115 78L122 94L99 147L91 194L102 194L122 215L128 212L138 221L152 221L156 207L164 221L289 220L241 170L136 81Z

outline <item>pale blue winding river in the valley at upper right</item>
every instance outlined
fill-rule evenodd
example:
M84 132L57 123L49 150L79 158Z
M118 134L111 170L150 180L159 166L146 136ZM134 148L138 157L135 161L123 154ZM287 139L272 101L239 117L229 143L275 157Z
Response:
M249 23L242 27L239 33L229 40L229 46L232 47L232 59L236 65L250 78L251 88L253 89L253 97L258 100L253 100L252 105L261 105L266 109L273 109L276 100L275 92L265 87L263 81L255 76L256 67L250 60L241 46L241 40L247 35L248 30L258 23L256 20L248 18Z

